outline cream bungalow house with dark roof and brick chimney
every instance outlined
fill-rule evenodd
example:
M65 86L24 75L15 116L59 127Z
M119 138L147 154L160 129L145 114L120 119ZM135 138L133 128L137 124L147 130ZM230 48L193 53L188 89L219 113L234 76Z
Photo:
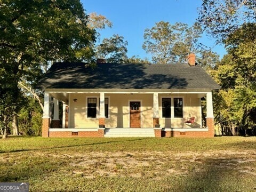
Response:
M189 55L188 64L101 60L91 68L86 63L57 62L37 88L45 91L43 137L214 136L212 90L220 86L195 65L195 54ZM206 127L202 123L204 97ZM50 98L54 98L52 119Z

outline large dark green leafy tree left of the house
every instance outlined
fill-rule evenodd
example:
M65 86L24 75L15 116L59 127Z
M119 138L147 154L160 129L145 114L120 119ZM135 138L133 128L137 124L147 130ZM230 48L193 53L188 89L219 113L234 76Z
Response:
M20 79L29 81L31 74L42 74L41 66L49 61L90 62L95 30L87 26L87 15L77 0L2 0L0 10L0 113L6 132L18 113Z

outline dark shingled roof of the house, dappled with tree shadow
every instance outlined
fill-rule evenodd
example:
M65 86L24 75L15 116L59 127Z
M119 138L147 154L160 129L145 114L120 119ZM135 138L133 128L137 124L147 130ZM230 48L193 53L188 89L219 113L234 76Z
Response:
M188 64L54 63L39 89L220 89L202 67Z

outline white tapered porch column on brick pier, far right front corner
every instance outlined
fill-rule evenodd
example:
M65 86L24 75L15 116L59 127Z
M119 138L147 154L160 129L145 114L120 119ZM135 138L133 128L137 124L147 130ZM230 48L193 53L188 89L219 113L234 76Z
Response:
M212 92L206 93L206 126L210 136L214 136L214 116L212 105Z

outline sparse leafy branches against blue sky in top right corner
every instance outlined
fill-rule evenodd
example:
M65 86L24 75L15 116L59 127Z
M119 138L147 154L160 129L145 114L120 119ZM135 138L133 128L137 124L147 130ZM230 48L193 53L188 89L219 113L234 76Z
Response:
M243 23L255 21L255 0L204 0L198 10L197 22L203 26L208 35L224 42L229 34L239 29ZM253 34L251 34L253 35Z

